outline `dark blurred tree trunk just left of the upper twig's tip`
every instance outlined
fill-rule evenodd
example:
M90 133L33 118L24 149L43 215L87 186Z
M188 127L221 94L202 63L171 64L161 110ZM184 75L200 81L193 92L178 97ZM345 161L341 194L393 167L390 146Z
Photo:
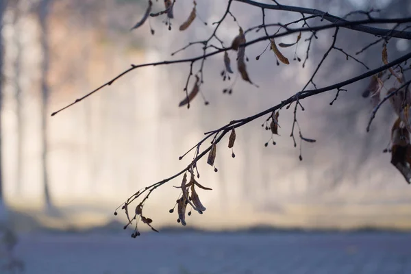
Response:
M50 49L49 49L49 8L51 0L41 0L38 10L38 18L40 22L40 45L42 49L42 63L41 63L41 139L42 139L42 175L45 202L47 208L53 206L50 189L49 189L49 174L47 173L48 160L48 119L49 119L49 64L50 64Z

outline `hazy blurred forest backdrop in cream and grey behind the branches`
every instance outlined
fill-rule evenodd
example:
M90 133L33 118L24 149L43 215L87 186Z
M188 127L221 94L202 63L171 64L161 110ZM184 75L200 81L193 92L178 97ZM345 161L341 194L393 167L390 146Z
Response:
M197 1L203 20L214 22L224 12L219 1ZM177 1L177 22L185 20L192 3ZM290 1L290 5L328 10L343 16L352 10L380 8L378 16L408 16L408 0ZM170 53L190 40L209 35L210 26L195 21L187 32L169 31L160 18L129 32L145 10L146 1L132 0L9 0L0 1L2 18L1 195L19 229L30 229L26 216L48 227L102 225L136 190L176 173L187 149L203 132L232 119L258 112L294 94L310 78L332 39L319 34L305 69L292 62L276 66L264 45L247 48L249 68L260 88L236 82L232 95L223 94L221 60L211 58L201 99L190 110L178 108L184 98L186 64L139 69L85 101L51 117L51 112L107 82L130 64L201 54L190 48ZM260 23L260 10L238 3L237 18L245 25ZM274 12L272 23L292 21L299 14ZM356 15L360 16L360 15ZM353 18L356 18L353 16ZM179 25L175 23L175 25ZM238 27L230 21L221 37L232 40ZM342 30L339 47L355 53L375 38ZM252 36L252 34L250 34ZM284 38L284 42L288 42ZM390 55L409 51L410 43L393 40ZM380 45L362 53L369 66L381 62ZM306 45L299 47L303 55ZM323 66L320 85L339 82L364 68L333 53ZM275 82L275 90L272 90ZM203 163L201 182L213 188L203 195L210 211L193 216L203 228L279 225L302 227L379 226L411 228L410 188L382 153L390 138L394 114L385 106L370 133L371 112L361 97L367 82L349 86L330 106L334 93L306 99L299 117L305 136L315 144L299 149L288 137L292 111L281 117L276 146L264 147L270 136L261 123L238 131L235 153L219 151L218 173ZM229 84L228 84L229 85ZM285 113L285 112L284 112ZM155 224L175 223L168 214L178 196L173 182L156 191L148 211ZM177 184L177 183L176 183ZM24 214L24 218L21 217ZM14 216L14 217L13 217ZM121 227L119 227L121 229Z

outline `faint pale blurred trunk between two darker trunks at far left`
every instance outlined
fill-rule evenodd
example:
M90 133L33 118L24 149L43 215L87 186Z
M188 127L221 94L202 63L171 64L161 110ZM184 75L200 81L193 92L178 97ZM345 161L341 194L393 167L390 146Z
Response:
M16 195L21 195L22 179L23 179L23 108L22 105L22 94L21 94L21 61L22 61L22 51L23 47L21 44L21 27L20 19L23 15L19 5L17 4L14 8L14 36L13 44L16 49L16 58L14 60L14 88L15 88L15 99L16 99L16 119L17 119L17 162L16 162Z

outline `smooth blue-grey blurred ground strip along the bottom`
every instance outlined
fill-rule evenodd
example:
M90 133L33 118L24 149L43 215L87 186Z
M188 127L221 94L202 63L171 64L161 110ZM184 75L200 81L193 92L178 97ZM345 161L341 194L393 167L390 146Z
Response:
M411 273L411 234L25 234L27 274Z

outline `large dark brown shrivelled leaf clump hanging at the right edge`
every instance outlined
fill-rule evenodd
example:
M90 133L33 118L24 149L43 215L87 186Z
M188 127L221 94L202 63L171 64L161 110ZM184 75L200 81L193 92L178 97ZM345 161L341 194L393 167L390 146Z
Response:
M403 127L401 119L395 121L391 129L391 164L411 184L411 145L410 133Z

